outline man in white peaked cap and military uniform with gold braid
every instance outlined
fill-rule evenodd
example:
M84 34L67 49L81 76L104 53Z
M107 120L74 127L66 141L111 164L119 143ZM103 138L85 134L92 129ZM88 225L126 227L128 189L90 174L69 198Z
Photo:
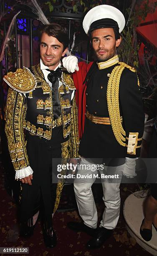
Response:
M69 228L85 231L94 236L88 248L99 248L116 227L120 212L119 185L122 173L134 177L135 160L139 157L144 130L144 112L139 92L136 70L119 62L116 49L121 43L120 32L125 25L124 15L110 5L99 5L86 14L83 28L90 36L97 61L79 63L79 72L73 73L77 89L79 154L81 163L90 166L78 171L92 174L92 164L96 158L103 158L104 174L116 174L118 180L102 180L105 210L97 228L97 210L91 185L92 178L74 181L79 214L84 223L68 223ZM64 58L63 66L75 69L73 57Z

